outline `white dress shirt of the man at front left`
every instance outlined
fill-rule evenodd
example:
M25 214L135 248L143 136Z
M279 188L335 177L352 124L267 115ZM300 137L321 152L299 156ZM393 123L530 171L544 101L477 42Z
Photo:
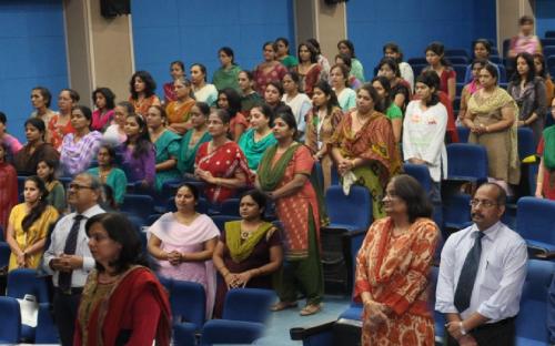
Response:
M71 275L71 287L83 287L84 283L87 282L87 276L89 275L89 272L94 268L94 258L91 255L91 251L89 248L89 237L84 233L84 224L87 221L97 215L97 214L102 214L105 213L103 208L101 208L98 204L94 206L91 206L84 213L81 215L84 216L83 220L81 220L81 224L79 225L79 235L77 238L77 247L75 247L75 255L82 256L83 257L83 267L79 269L74 269L73 274ZM71 231L71 226L73 225L74 217L77 213L71 213L65 216L63 216L54 227L54 231L52 231L52 235L50 237L51 243L48 250L44 252L44 257L43 257L43 268L50 274L53 274L52 276L52 282L56 287L58 287L58 271L52 271L50 267L50 261L53 258L58 257L60 254L63 254L63 250L65 247L65 240L68 238L68 235Z

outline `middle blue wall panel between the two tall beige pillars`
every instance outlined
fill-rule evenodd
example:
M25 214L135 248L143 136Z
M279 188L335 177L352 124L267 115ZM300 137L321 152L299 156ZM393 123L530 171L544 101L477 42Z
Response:
M262 61L262 44L278 37L294 42L293 0L133 0L135 69L154 77L159 94L170 80L169 64L202 62L209 80L220 67L218 49L231 47L235 61L252 69Z

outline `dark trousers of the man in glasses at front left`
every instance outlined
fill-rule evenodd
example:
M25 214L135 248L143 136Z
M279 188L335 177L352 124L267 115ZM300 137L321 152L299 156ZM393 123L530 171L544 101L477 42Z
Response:
M81 301L81 292L82 288L72 288L70 294L65 294L56 288L54 320L60 333L60 342L63 346L73 345L73 333L75 330L77 311Z

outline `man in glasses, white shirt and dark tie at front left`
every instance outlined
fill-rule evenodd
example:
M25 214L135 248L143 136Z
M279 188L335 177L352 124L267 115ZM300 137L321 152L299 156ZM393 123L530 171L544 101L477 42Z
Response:
M69 184L68 203L74 213L62 217L54 227L44 253L44 269L54 284L54 318L63 346L73 345L77 311L87 275L94 268L84 224L104 213L99 206L100 181L89 174L78 174Z

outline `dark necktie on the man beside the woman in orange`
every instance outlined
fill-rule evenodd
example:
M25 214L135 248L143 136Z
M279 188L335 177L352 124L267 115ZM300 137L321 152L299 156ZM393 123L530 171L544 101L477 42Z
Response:
M466 260L464 260L461 276L458 276L454 299L458 313L464 312L471 306L472 289L474 288L476 273L478 272L480 256L482 255L482 237L485 234L480 231L476 233L474 246L468 251Z

